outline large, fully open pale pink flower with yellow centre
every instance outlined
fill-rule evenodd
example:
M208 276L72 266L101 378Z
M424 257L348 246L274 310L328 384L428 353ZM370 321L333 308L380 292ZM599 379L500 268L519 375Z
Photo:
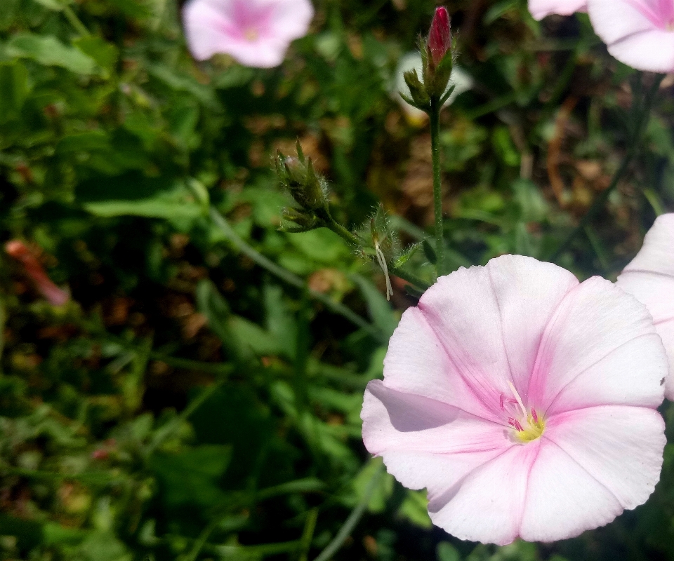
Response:
M652 493L666 371L635 298L505 255L439 278L403 314L363 438L461 539L569 538Z

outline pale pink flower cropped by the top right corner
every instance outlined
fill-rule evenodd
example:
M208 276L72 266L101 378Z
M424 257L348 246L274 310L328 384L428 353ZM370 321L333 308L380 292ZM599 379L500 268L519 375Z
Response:
M588 0L595 32L633 68L674 71L673 0Z

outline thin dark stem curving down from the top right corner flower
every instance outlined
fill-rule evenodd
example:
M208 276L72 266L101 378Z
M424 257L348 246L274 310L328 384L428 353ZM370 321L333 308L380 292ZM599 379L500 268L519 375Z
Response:
M616 170L616 173L614 174L613 179L609 184L609 187L607 187L607 189L604 189L604 191L602 191L601 194L597 196L597 198L595 198L595 201L593 201L592 205L590 205L590 208L588 208L588 212L586 212L585 215L581 218L581 222L579 222L579 224L574 228L574 230L571 231L571 234L569 234L569 236L567 236L567 238L564 239L564 241L560 244L559 248L557 248L557 250L553 253L553 255L550 256L550 261L554 262L558 257L560 257L560 255L562 255L564 251L567 250L567 248L569 248L569 245L571 245L571 242L574 241L576 236L578 236L581 233L581 231L584 231L586 227L588 227L588 224L590 224L590 221L595 217L597 212L599 212L602 208L604 208L604 204L608 200L609 196L616 189L616 187L618 187L620 180L623 178L623 175L625 175L628 168L630 167L630 163L632 163L633 159L637 155L637 152L639 150L639 144L642 140L642 136L648 124L655 95L664 77L665 77L664 74L656 75L653 85L649 88L648 92L646 93L643 105L641 107L639 104L640 96L635 96L633 98L632 113L633 115L636 116L635 130L633 137L630 139L629 147L625 155L623 156L623 161L621 161L620 167L618 168L618 170Z

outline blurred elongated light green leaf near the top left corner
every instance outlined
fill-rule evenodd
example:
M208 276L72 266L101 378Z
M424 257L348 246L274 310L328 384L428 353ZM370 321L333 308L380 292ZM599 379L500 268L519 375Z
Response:
M76 74L94 74L96 63L81 50L65 46L54 36L18 34L7 43L6 53L11 57L29 58L41 65L59 66Z

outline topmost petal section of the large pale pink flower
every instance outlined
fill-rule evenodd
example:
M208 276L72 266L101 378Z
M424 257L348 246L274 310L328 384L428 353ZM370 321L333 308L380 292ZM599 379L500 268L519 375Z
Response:
M418 304L452 371L488 410L512 381L527 401L541 333L578 280L550 263L503 255L438 279ZM388 372L384 371L385 375ZM456 374L454 374L456 375Z

